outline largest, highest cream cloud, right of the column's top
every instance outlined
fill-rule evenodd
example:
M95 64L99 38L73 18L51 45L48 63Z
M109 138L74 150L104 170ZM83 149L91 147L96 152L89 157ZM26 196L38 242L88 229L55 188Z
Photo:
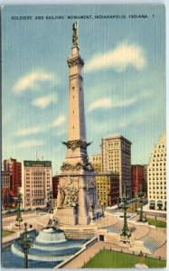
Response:
M113 68L122 72L128 66L142 70L146 66L145 51L137 44L122 42L113 51L99 53L86 63L86 72Z

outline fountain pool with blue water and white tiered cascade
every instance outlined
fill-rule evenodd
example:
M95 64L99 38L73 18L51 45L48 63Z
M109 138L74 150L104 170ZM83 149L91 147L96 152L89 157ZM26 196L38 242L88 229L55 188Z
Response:
M59 235L58 241L55 235ZM47 240L47 236L50 239ZM35 230L29 233L33 238L33 247L29 249L29 268L53 268L62 261L78 252L87 239L66 239L61 229L42 229L37 236ZM6 268L23 268L24 254L19 246L20 239L16 239L11 247L2 250L2 266ZM10 259L10 260L9 260Z

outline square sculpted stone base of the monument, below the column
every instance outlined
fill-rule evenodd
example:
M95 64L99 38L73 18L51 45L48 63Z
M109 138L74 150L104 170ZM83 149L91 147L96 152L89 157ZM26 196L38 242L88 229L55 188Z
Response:
M95 173L63 173L59 175L56 217L61 224L88 225L89 210L97 209Z

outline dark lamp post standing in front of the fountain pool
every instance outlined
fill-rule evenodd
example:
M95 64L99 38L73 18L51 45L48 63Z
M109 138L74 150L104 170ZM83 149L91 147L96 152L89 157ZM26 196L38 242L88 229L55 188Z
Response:
M27 223L24 223L23 238L21 238L20 246L23 248L24 253L24 268L28 268L28 253L29 248L33 245L33 240L27 237Z

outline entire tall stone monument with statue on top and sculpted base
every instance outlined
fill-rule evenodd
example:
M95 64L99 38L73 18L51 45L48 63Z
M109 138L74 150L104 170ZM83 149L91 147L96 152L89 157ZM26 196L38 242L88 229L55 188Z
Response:
M77 23L72 25L72 48L68 58L69 130L65 161L61 165L57 200L57 220L60 224L87 225L96 217L97 192L95 173L89 163L84 116L83 78L84 61L78 47Z

